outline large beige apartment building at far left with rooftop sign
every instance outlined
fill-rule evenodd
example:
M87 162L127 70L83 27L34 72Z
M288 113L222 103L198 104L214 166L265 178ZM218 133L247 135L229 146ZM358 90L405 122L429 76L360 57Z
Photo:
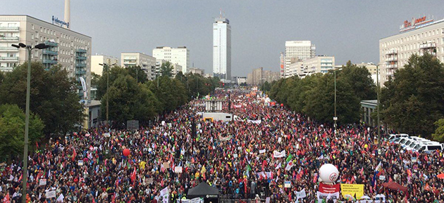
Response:
M49 48L32 51L31 60L40 61L49 69L61 65L69 77L78 82L78 95L84 93L80 77L85 79L87 99L91 91L91 37L51 24L29 15L0 15L0 71L11 72L13 67L28 60L25 48L12 44L35 46L47 44Z

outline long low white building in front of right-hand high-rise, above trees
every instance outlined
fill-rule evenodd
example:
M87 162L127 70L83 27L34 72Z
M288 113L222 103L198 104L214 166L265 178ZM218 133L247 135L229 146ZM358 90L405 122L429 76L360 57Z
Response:
M287 77L298 76L305 77L314 73L326 73L335 67L335 57L316 55L313 58L305 60L298 60L295 63L290 63L286 75Z

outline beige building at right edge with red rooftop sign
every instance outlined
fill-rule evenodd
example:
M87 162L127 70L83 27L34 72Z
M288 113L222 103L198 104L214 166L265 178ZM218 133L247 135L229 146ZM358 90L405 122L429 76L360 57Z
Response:
M408 63L412 54L425 52L444 61L444 19L434 21L424 16L405 20L399 34L379 40L381 86Z

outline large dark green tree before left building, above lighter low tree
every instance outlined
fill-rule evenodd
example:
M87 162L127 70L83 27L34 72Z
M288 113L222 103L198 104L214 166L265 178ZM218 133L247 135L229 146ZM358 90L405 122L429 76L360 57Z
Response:
M76 129L84 114L79 103L75 80L61 65L44 70L42 63L32 63L30 110L45 124L47 135L65 135ZM16 104L25 109L27 63L6 74L0 86L0 104Z

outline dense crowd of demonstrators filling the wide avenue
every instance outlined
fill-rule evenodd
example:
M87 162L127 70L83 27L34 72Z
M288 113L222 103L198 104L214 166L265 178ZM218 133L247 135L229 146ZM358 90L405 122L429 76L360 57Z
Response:
M228 98L227 91L214 96ZM221 197L271 202L295 202L297 191L314 202L319 167L338 167L338 183L364 184L364 194L386 195L393 202L443 202L442 152L409 152L383 141L374 143L375 131L361 125L333 126L316 122L280 105L265 105L264 98L231 91L231 108L238 117L230 122L205 122L204 100L192 100L175 112L156 118L153 126L138 131L90 129L41 144L29 158L29 202L161 202L168 188L171 202L187 197L200 182L220 189ZM196 136L192 123L196 125ZM111 136L105 136L111 131ZM123 150L129 149L125 157ZM285 150L285 157L273 152ZM415 157L416 161L412 161ZM290 169L285 169L292 162ZM375 169L382 169L375 178ZM0 166L0 199L21 198L20 159ZM175 173L175 166L182 166ZM264 172L264 173L261 173ZM46 184L41 185L41 180ZM291 188L284 187L291 181ZM407 192L390 190L393 181ZM49 191L56 197L47 199ZM343 199L342 195L340 200Z

